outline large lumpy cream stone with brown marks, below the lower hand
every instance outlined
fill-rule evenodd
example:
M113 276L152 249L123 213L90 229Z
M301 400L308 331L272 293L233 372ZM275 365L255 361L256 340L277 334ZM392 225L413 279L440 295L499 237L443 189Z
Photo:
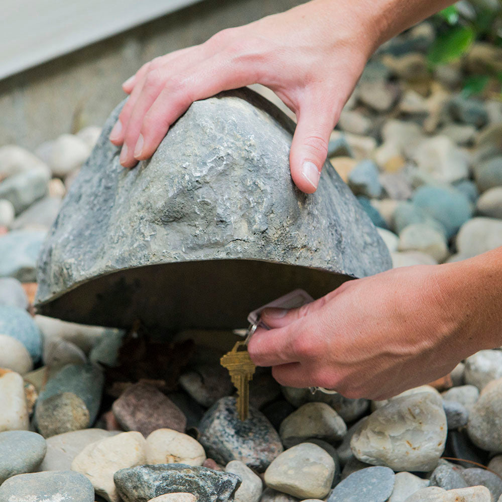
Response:
M390 400L373 412L350 442L362 462L396 471L428 471L446 441L446 416L440 397L418 393Z

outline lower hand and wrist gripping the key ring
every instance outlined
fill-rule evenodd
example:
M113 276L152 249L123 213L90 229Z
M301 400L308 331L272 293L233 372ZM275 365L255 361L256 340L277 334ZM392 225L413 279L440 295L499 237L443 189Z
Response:
M491 263L486 254L484 263L394 269L345 282L299 309L264 311L272 329L255 332L249 355L272 366L282 385L347 398L388 399L428 384L500 345L502 248L491 253Z

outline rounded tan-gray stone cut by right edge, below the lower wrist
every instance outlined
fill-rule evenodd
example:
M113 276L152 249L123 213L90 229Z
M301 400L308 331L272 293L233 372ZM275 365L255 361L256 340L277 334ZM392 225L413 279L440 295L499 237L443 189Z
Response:
M502 452L502 379L483 389L469 413L467 432L471 441L490 452Z

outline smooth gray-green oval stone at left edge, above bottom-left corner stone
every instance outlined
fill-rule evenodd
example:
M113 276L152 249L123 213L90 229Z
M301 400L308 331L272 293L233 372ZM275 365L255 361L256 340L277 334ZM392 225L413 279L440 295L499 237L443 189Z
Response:
M35 432L0 432L0 484L16 474L34 471L46 452L45 439Z

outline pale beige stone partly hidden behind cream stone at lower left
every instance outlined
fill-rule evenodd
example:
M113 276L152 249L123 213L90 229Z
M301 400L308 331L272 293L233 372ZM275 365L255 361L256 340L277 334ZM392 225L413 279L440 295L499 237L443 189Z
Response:
M103 429L82 429L47 438L47 453L40 464L39 470L70 470L73 459L87 445L116 434L118 432Z

